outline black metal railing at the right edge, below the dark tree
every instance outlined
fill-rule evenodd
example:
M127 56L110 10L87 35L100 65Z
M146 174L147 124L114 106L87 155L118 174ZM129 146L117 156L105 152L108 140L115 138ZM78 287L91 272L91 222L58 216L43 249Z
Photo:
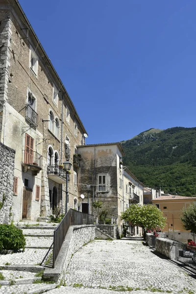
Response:
M174 242L175 259L196 270L196 247Z

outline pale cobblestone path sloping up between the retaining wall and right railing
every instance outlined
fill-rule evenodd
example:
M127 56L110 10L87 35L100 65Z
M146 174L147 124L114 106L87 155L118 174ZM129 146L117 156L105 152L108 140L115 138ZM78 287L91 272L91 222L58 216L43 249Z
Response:
M141 241L89 243L73 255L65 279L66 287L48 294L196 294L196 279Z

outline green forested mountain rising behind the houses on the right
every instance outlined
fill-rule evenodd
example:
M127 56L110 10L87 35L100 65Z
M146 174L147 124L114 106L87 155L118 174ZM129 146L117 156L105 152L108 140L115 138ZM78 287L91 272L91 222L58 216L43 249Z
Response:
M122 145L123 165L147 187L196 195L196 127L151 128Z

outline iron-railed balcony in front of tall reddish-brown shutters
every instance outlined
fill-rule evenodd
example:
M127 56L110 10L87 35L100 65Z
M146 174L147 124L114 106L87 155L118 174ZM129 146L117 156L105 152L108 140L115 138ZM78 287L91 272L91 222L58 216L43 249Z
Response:
M37 175L42 170L42 155L36 151L24 150L24 162L22 163L23 172L33 171Z

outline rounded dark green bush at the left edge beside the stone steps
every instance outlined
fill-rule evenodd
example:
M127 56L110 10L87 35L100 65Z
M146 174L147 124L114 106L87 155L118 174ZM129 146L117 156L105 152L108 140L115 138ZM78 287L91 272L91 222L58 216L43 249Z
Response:
M0 224L0 250L25 250L25 237L23 231L14 225Z

